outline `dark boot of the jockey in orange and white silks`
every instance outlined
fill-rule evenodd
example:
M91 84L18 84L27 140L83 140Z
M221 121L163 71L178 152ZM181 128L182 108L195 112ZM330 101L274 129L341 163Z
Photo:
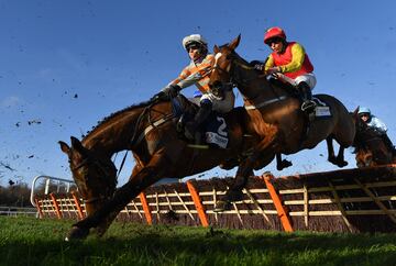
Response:
M185 125L185 136L195 141L196 144L199 144L201 141L201 134L199 132L199 126L206 121L212 110L212 103L209 100L204 100L200 102L199 110L191 121L188 121Z

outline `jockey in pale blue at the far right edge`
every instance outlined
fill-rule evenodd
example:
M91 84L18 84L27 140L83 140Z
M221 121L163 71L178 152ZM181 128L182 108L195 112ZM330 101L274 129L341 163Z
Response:
M373 115L369 108L360 107L358 114L360 119L369 126L375 130L378 135L383 138L386 146L391 148L394 155L396 155L395 146L393 145L391 138L386 134L387 128L383 121L381 121L377 117Z

